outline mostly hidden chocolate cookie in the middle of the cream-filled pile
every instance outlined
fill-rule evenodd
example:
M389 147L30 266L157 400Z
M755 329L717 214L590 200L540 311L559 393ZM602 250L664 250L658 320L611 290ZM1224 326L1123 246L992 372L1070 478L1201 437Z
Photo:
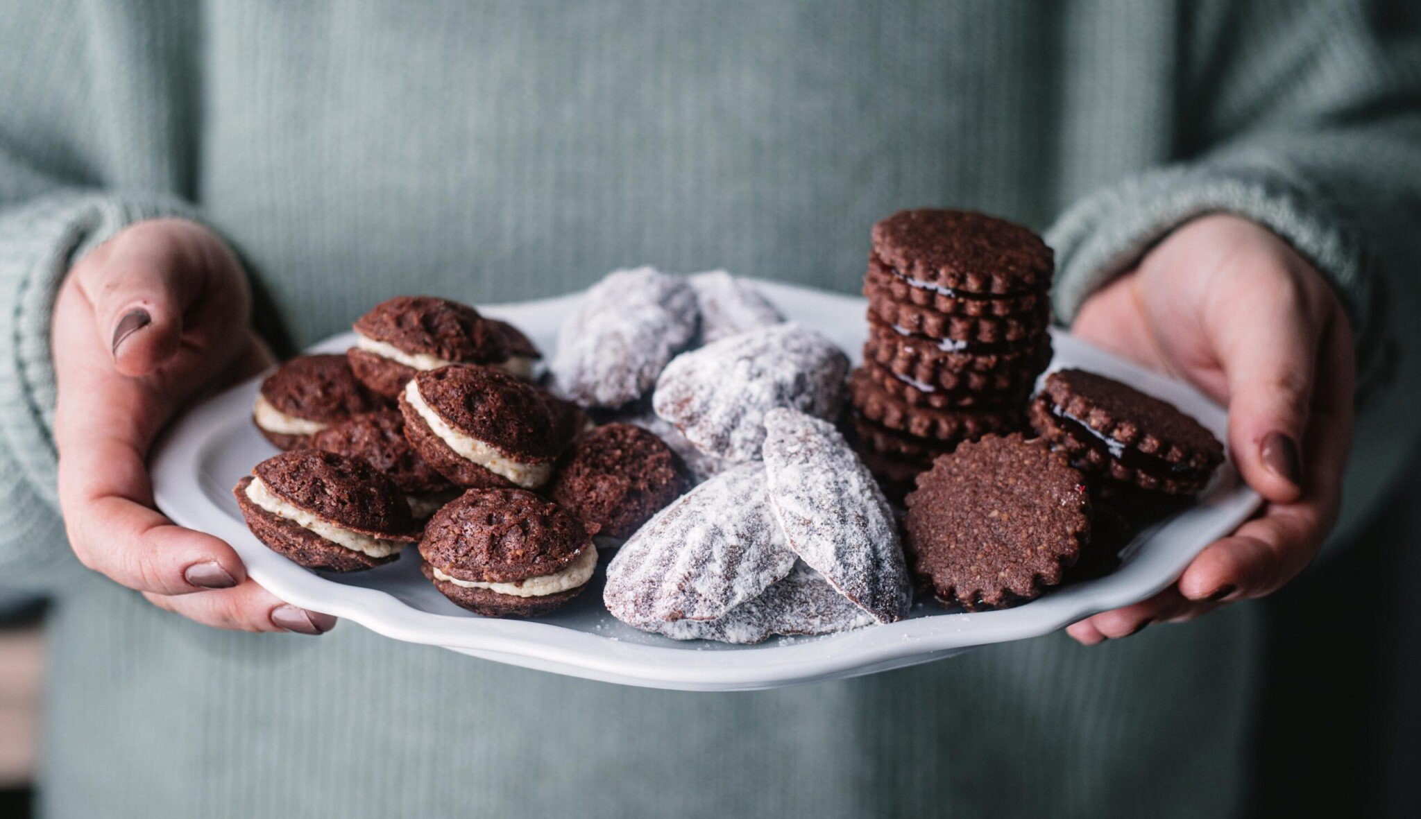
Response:
M409 502L416 520L425 520L458 494L449 478L439 474L405 439L405 416L399 410L358 414L311 436L311 447L338 456L364 458L389 476Z

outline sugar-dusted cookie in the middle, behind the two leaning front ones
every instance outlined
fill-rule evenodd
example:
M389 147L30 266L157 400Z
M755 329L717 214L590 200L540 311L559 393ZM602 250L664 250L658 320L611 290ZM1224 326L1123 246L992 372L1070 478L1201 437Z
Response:
M769 410L838 414L847 373L848 356L834 342L779 324L676 356L657 380L651 406L701 451L747 461L760 457Z

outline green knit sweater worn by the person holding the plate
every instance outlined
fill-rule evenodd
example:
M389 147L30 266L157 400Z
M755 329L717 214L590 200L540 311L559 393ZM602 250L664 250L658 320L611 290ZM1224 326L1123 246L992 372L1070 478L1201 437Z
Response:
M1400 1L4 0L0 20L0 582L57 602L55 816L1221 815L1246 781L1248 606L715 696L153 609L70 555L51 439L55 287L136 219L222 233L290 351L396 292L546 297L638 263L853 291L870 224L922 204L1049 230L1069 319L1225 210L1296 246L1360 328L1376 389L1344 529L1415 426Z

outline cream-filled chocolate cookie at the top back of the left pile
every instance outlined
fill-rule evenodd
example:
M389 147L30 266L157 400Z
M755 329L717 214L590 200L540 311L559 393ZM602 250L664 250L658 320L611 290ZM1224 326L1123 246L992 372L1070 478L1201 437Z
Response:
M506 322L475 308L428 295L396 295L355 322L347 356L371 392L395 399L416 372L477 363L529 378L537 348Z

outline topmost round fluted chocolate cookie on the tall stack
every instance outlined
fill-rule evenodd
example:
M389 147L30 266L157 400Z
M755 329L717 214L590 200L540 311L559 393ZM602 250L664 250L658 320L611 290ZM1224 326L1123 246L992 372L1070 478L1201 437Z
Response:
M1056 270L1039 236L971 210L899 210L874 224L872 250L909 284L953 298L1040 292Z

